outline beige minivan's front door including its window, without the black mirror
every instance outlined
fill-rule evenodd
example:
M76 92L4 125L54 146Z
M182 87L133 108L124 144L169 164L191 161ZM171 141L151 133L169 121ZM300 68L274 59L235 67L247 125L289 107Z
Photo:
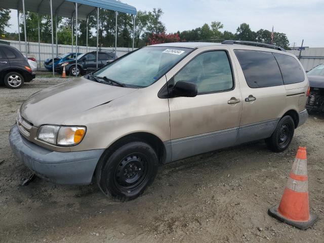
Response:
M205 51L169 80L198 90L196 97L169 99L173 161L235 144L242 102L232 65L226 50Z

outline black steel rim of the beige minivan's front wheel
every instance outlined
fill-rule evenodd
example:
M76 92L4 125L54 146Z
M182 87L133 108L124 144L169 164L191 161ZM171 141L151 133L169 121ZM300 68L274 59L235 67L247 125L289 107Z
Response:
M148 180L148 163L143 154L132 153L119 161L114 172L118 190L130 193L140 189Z

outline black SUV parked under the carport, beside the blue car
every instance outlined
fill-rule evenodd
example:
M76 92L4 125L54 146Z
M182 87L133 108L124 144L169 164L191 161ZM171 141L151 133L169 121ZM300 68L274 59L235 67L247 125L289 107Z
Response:
M106 65L107 61L115 59L115 54L112 52L98 52L98 68ZM75 67L75 60L60 63L56 66L56 71L63 72L63 65L65 65L65 72L72 76L82 75L96 70L97 52L88 52L77 56L77 67Z

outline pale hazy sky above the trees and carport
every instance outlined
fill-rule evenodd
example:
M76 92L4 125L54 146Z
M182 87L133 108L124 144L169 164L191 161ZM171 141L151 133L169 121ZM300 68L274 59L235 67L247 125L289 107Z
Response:
M324 0L122 0L137 10L161 8L167 33L194 29L220 21L224 30L236 32L241 23L253 31L268 29L286 33L293 46L324 47ZM12 10L12 26L18 31L17 12Z

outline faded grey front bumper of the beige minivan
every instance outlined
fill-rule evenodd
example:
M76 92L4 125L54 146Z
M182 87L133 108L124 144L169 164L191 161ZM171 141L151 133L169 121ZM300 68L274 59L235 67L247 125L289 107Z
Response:
M15 124L9 133L11 149L32 172L57 184L90 184L104 149L56 152L38 146L19 133Z

